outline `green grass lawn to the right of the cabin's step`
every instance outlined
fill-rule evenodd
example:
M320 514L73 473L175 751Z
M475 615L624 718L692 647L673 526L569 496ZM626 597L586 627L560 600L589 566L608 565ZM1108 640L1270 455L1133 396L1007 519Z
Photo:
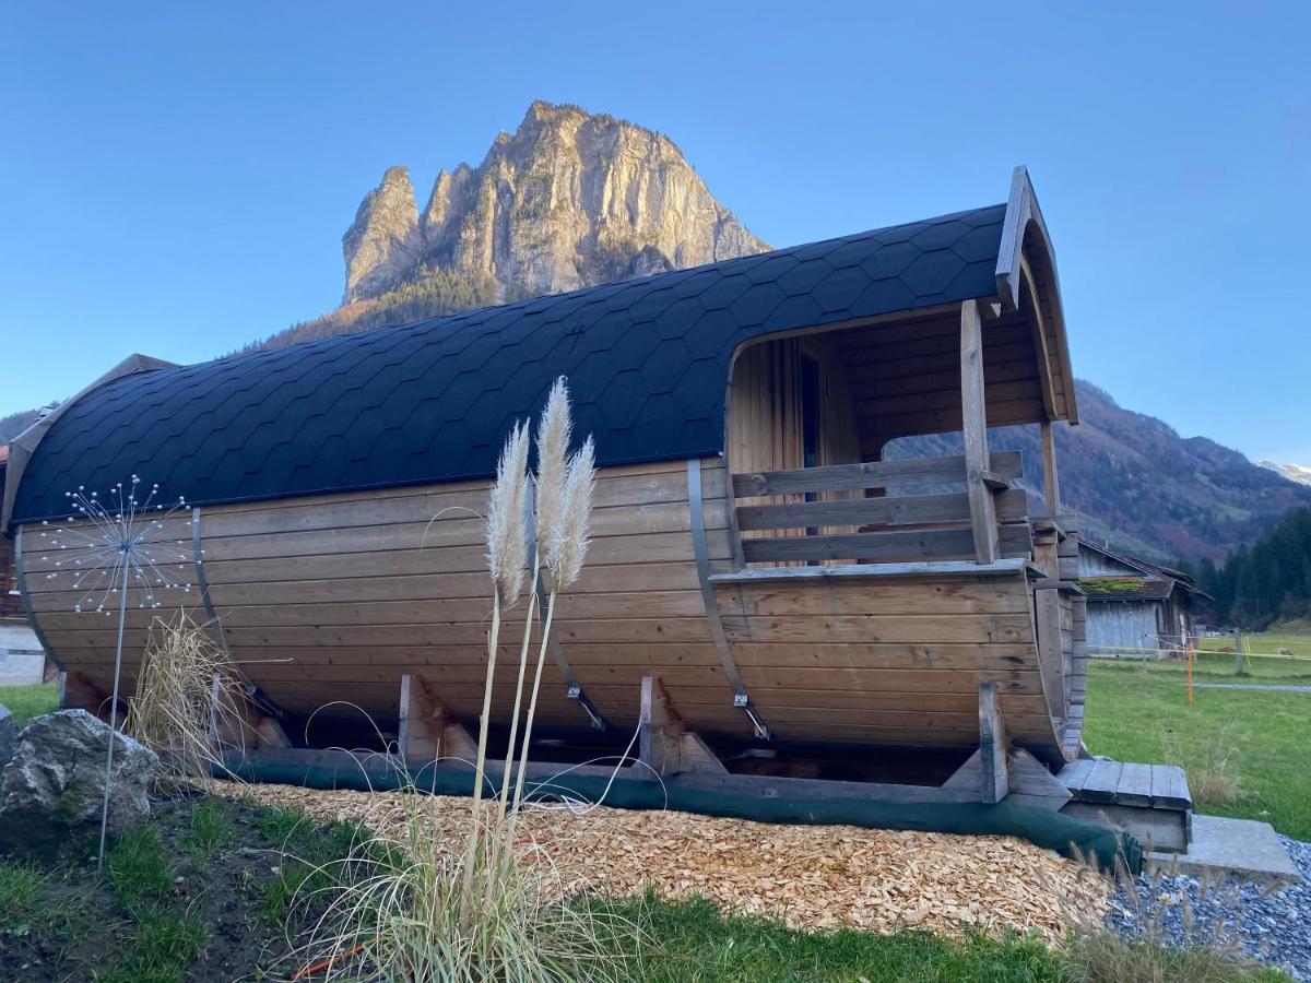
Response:
M1234 676L1234 657L1202 654L1196 682L1311 685L1311 663L1253 659ZM1188 772L1197 810L1264 819L1311 840L1311 772L1304 759L1311 692L1194 691L1172 662L1091 659L1084 742L1124 761L1168 761ZM1226 785L1236 782L1236 796ZM1206 798L1207 786L1217 793ZM1230 800L1230 801L1223 801Z

